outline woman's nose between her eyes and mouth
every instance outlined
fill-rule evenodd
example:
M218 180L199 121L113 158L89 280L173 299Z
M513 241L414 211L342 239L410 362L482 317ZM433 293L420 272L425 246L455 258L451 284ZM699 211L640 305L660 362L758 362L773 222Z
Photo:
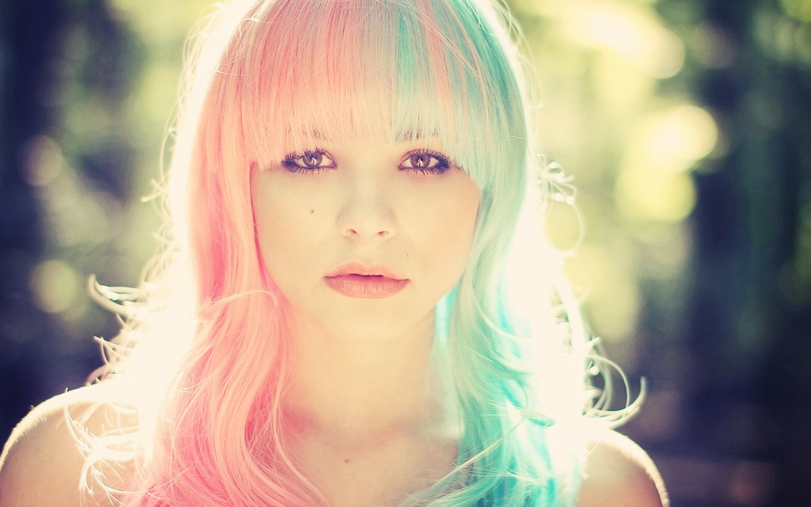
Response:
M347 238L387 239L397 232L393 203L384 182L373 178L346 182L343 206L338 214L339 232Z

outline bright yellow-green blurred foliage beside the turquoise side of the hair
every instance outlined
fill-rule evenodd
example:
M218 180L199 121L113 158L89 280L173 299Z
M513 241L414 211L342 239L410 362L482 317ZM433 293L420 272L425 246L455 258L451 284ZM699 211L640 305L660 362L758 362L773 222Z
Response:
M580 192L580 216L553 209L550 234L564 248L581 238L569 278L594 333L627 365L643 281L658 282L676 306L683 300L692 246L684 219L696 200L690 172L723 155L723 133L686 88L672 85L692 58L690 39L656 2L511 3L538 69L540 145Z

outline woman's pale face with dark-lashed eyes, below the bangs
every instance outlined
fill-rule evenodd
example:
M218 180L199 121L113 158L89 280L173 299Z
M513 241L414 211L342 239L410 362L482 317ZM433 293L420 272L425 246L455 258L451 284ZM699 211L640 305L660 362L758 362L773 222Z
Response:
M251 175L256 234L294 321L384 339L461 277L479 191L438 140L319 142Z

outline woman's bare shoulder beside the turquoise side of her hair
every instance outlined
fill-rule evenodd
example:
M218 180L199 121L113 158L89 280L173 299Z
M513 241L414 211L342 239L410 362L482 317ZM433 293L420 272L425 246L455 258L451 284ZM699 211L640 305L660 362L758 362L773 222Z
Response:
M577 507L667 507L667 491L654 462L620 433L594 430Z

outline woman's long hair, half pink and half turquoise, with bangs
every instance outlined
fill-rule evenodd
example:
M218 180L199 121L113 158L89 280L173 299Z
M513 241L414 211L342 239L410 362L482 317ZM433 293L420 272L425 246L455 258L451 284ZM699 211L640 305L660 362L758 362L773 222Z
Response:
M256 245L251 170L324 137L424 136L481 200L466 270L436 305L459 455L406 503L573 503L578 445L564 433L591 407L586 333L539 225L554 182L536 156L517 38L487 0L237 0L200 29L169 166L171 239L145 301L119 307L129 319L104 372L139 427L84 438L139 453L130 505L323 501L282 442L289 337Z

